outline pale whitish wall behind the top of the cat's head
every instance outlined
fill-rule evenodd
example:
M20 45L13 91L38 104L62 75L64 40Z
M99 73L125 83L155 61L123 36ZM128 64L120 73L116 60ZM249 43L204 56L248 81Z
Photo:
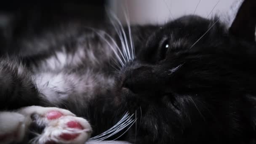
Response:
M228 11L234 1L235 0L110 0L110 6L121 21L125 20L123 12L125 8L127 8L132 24L155 24L164 23L172 19L172 17L177 18L184 14L193 14L198 3L195 14L207 17L211 10L213 10L211 13L211 16L213 16L216 12ZM213 9L215 5L216 7Z

